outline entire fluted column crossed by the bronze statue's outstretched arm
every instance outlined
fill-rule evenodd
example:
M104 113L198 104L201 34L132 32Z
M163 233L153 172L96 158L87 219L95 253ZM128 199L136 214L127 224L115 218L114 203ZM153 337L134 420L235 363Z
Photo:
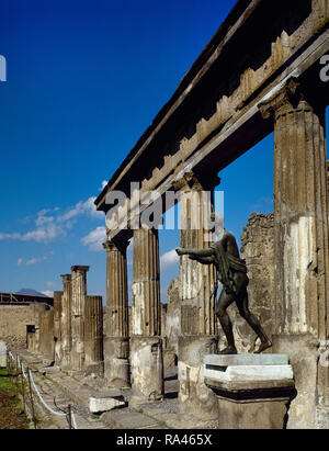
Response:
M201 182L188 172L174 183L181 191L181 244L182 248L207 248L212 241L208 230L214 210L213 190L219 183L208 176ZM207 192L207 193L205 193ZM193 415L200 420L217 418L217 399L204 384L203 358L217 351L217 327L213 295L216 272L214 266L180 257L181 336L179 337L179 407L180 413Z

